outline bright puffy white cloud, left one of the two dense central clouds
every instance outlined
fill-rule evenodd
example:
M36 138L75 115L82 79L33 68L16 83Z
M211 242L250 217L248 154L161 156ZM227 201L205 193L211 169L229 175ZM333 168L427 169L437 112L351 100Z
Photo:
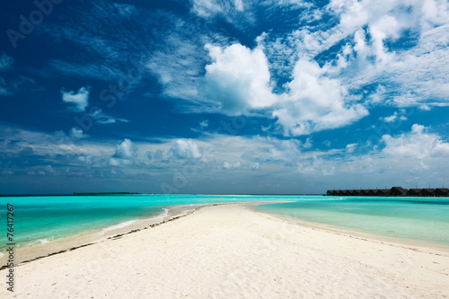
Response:
M212 63L206 66L199 93L229 116L267 108L276 101L271 92L269 66L260 48L241 44L227 48L207 44Z

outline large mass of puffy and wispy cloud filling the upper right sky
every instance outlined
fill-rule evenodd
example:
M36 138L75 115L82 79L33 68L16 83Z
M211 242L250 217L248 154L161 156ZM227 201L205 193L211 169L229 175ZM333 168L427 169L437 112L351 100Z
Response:
M248 13L255 6L244 1L191 3L192 12L203 17L233 17L232 12L242 8ZM200 34L194 43L176 26L168 40L180 47L156 52L148 64L165 94L189 101L194 107L189 110L271 117L284 136L351 125L373 106L449 104L445 1L333 0L321 8L279 3L283 10L302 6L308 17L292 31L262 33L255 48ZM329 24L305 26L324 14ZM204 68L204 49L198 48L203 42L210 58ZM168 63L167 55L172 57ZM397 114L383 121L405 119Z

